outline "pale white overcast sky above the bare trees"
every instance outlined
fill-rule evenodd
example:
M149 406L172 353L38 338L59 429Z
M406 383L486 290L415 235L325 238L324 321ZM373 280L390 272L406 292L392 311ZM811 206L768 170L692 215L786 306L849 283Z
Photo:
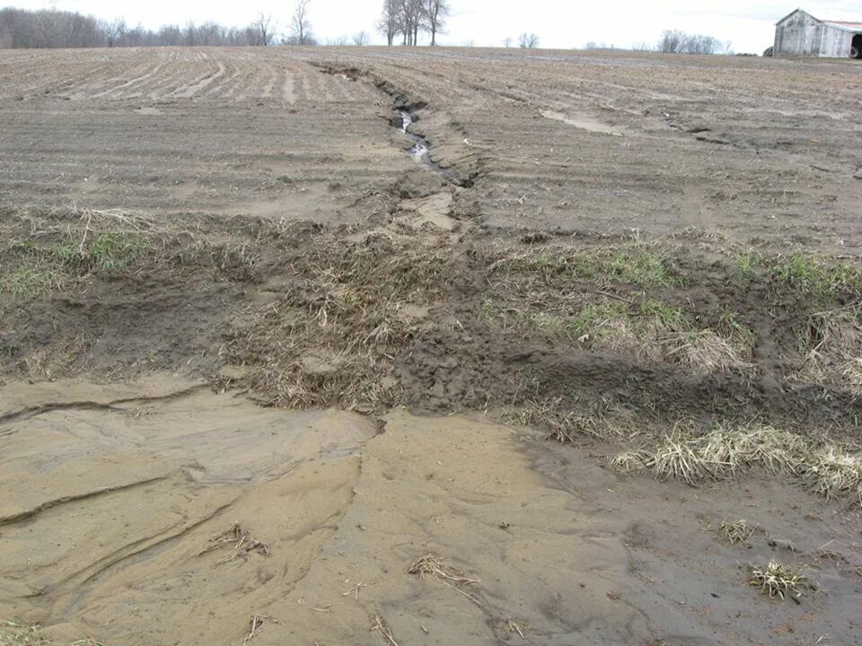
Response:
M541 47L576 48L588 41L630 48L654 44L665 29L703 33L731 41L735 51L757 52L772 44L774 24L805 0L449 0L452 15L443 45L501 47L506 37L535 32ZM0 4L3 0L0 0ZM156 28L162 24L216 21L242 26L259 10L271 12L285 29L294 0L56 0L9 2L22 8L57 6L98 18L123 17ZM325 41L356 31L374 31L383 0L312 0L314 34ZM821 0L801 7L818 18L862 22L862 0ZM375 35L374 42L381 39Z

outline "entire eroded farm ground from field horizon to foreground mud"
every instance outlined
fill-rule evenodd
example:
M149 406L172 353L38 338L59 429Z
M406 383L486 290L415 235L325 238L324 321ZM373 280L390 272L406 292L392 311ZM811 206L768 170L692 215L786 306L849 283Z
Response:
M0 51L0 644L858 643L858 71Z

